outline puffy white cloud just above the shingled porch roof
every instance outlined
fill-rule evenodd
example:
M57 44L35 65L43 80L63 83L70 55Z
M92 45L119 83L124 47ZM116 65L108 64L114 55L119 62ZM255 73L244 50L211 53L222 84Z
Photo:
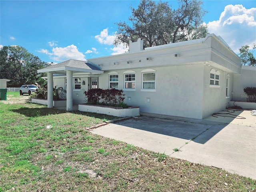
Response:
M52 48L52 52L46 49L41 49L39 52L51 55L51 58L55 61L65 61L69 59L86 60L84 54L79 52L78 48L73 44L67 47Z

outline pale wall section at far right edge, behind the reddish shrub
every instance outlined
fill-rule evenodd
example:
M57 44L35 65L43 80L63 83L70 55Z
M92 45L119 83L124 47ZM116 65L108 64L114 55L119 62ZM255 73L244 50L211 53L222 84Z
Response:
M256 87L256 67L242 66L241 74L234 75L233 100L247 101L246 87Z

